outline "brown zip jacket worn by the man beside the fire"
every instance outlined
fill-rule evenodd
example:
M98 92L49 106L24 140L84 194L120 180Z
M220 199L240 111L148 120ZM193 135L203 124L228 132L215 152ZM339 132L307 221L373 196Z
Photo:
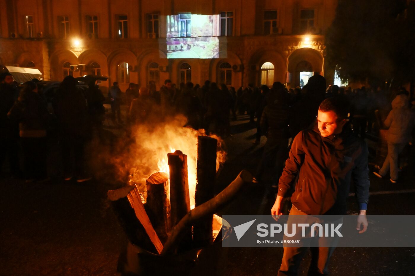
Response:
M299 173L291 202L306 214L346 214L350 181L357 200L369 200L368 149L348 130L322 137L317 126L295 136L278 184L278 195L286 192Z

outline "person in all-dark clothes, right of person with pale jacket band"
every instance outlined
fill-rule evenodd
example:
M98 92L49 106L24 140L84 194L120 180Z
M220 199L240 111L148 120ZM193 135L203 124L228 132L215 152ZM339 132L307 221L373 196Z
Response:
M85 97L76 87L77 83L73 76L66 76L56 91L53 107L59 121L65 180L76 176L77 182L84 182L92 178L85 162L85 145L91 137L91 122Z

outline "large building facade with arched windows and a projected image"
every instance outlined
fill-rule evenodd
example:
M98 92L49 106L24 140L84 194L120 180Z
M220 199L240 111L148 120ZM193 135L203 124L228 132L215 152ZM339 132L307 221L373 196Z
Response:
M46 80L97 74L109 77L101 85L118 81L121 89L149 81L159 88L164 79L236 88L274 81L293 87L312 74L333 81L323 51L336 0L0 0L0 6L0 62L37 68ZM186 42L198 24L194 15L212 15L206 22L215 39L205 46ZM186 46L207 51L211 43L218 43L213 58L183 56Z

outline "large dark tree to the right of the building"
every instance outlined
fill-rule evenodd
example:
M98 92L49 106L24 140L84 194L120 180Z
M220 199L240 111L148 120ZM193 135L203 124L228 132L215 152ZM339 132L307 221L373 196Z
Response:
M393 86L414 82L415 2L339 0L325 57L341 79Z

